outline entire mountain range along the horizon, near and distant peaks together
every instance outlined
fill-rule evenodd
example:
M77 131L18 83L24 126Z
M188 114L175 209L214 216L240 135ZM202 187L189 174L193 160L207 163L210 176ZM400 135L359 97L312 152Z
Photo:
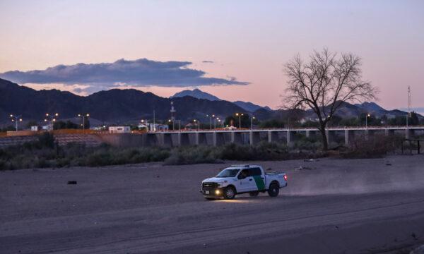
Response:
M192 95L199 95L197 98ZM10 114L22 115L25 121L42 121L46 113L59 113L59 119L73 119L77 114L89 113L97 123L137 123L141 119L170 119L171 102L177 110L175 118L183 122L198 119L208 122L206 114L219 117L245 112L259 120L281 119L298 114L305 119L316 119L312 110L272 110L251 102L228 102L201 90L183 91L165 98L140 90L112 89L88 96L74 95L60 90L33 90L8 80L0 79L0 123L9 124ZM406 116L405 111L386 110L375 102L343 105L336 112L341 117L356 117L370 113L375 116ZM423 118L423 116L419 116ZM96 121L94 121L96 120Z

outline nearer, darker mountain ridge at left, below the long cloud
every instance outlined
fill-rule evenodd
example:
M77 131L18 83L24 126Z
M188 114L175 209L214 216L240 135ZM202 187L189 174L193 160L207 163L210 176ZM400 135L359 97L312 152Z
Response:
M23 119L38 120L46 113L59 113L59 119L71 119L77 114L89 113L105 123L138 122L140 119L169 119L171 102L176 119L206 120L206 114L228 116L244 109L227 101L210 101L194 97L164 98L140 90L112 89L78 96L59 90L33 90L30 87L0 79L0 122L8 123L10 114Z

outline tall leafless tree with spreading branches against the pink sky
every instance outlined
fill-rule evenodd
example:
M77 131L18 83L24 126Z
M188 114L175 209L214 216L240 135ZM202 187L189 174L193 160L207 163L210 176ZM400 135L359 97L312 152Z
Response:
M323 149L328 149L326 123L343 102L376 99L377 88L363 81L361 59L354 54L314 51L307 62L299 55L285 64L288 88L285 108L310 108L317 115Z

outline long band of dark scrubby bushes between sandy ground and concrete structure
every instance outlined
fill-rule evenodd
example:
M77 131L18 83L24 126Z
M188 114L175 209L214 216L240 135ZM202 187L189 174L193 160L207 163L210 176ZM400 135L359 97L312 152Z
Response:
M0 149L0 170L44 167L100 167L142 162L164 162L164 164L219 163L224 160L285 160L310 159L329 155L345 158L383 157L396 152L402 139L396 136L375 135L359 137L351 147L338 146L336 150L319 150L321 142L300 138L293 147L283 143L261 142L257 145L227 144L219 147L189 146L163 147L86 147L71 143L60 146L54 136L44 133L38 140L23 145ZM337 145L337 144L334 144Z

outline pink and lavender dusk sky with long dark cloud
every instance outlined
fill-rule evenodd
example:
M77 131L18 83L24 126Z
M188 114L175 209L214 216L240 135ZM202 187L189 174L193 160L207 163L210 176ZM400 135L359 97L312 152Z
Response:
M423 29L424 1L1 0L0 77L80 95L198 87L276 108L283 64L327 47L362 57L383 107L407 107L408 85L424 107Z

